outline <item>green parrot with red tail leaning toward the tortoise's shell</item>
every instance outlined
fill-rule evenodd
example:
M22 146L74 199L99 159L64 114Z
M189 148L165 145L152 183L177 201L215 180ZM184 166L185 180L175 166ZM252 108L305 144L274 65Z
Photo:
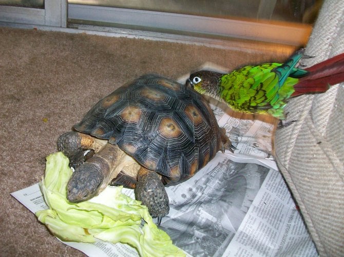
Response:
M234 111L270 114L283 120L289 98L325 92L330 85L344 81L344 53L303 70L296 68L303 52L297 51L285 63L245 66L230 74L198 71L186 84L227 103Z

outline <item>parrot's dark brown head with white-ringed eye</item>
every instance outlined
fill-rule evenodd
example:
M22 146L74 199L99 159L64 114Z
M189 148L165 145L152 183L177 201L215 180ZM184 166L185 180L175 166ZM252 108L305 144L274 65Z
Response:
M202 95L218 99L219 80L223 74L212 71L198 71L192 73L186 80L186 86L191 86Z

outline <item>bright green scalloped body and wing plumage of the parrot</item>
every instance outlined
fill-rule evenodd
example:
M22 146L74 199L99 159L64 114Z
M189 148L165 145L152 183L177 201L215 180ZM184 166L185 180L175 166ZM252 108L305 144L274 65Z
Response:
M219 93L232 109L246 113L269 113L283 119L286 100L294 93L298 77L307 71L294 68L302 54L281 63L246 66L220 78Z

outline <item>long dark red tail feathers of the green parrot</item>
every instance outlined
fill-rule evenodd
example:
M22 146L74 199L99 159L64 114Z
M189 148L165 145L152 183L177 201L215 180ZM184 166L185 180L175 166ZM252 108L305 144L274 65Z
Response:
M344 82L344 53L322 61L308 69L308 75L294 85L292 96L305 93L326 92L330 85Z

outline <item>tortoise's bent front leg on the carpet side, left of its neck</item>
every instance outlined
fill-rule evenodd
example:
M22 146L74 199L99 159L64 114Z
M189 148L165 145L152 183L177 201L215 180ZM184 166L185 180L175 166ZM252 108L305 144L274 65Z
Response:
M68 157L69 165L75 169L84 162L85 150L93 149L97 153L105 143L106 140L70 131L58 138L58 151Z

